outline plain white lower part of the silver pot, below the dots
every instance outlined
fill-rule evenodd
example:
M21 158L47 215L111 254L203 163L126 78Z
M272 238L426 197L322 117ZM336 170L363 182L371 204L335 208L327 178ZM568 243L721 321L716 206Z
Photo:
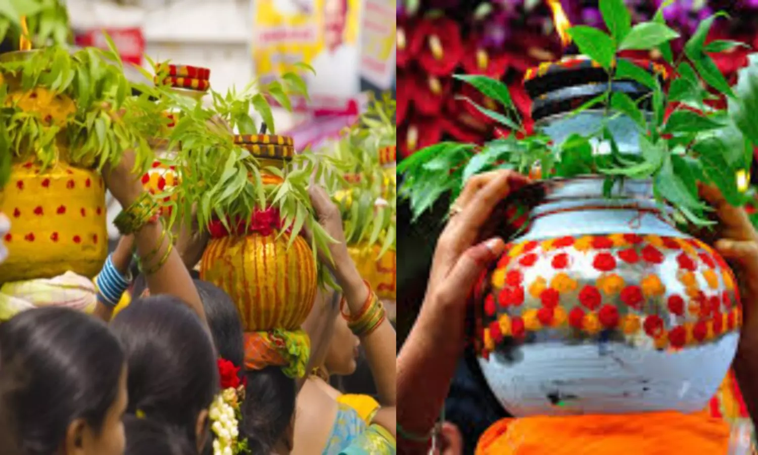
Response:
M525 344L479 359L514 416L704 409L735 356L739 334L684 350L622 342Z

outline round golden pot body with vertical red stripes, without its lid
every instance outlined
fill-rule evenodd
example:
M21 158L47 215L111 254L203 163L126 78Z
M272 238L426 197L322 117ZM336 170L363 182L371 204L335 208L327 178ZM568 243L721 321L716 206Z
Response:
M208 243L200 278L225 290L246 331L300 328L316 297L316 262L308 243L289 234L257 232Z

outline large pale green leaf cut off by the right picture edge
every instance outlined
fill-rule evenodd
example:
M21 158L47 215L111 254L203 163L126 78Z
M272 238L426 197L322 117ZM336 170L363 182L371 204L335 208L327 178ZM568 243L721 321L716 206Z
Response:
M737 98L729 105L729 114L742 133L758 145L758 54L749 56L747 67L738 71Z

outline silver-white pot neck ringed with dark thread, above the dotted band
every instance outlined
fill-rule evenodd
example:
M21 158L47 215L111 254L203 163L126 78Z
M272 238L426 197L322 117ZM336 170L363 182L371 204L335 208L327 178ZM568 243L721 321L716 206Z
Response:
M592 234L672 235L650 180L626 180L603 194L604 178L543 182L545 197L530 213L523 240ZM681 234L680 234L681 235Z

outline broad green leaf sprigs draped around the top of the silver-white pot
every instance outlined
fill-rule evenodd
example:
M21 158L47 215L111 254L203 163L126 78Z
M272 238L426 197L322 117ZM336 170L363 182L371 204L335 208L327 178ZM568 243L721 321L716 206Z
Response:
M677 209L678 221L710 223L710 209L700 200L698 182L719 187L728 202L742 205L747 200L742 182L758 145L758 55L750 55L747 67L738 72L738 83L730 86L710 55L747 45L728 40L706 43L714 21L725 16L717 13L700 23L675 58L671 42L679 33L663 16L671 3L664 2L649 22L633 26L622 0L600 0L608 33L584 25L568 30L581 54L608 75L603 93L568 113L605 111L596 131L573 134L561 143L536 133L520 140L515 135L491 140L483 146L447 142L423 149L399 166L404 176L400 193L409 199L414 216L444 193L455 196L472 175L497 168L528 174L537 166L543 178L600 174L606 177L607 188L619 179L652 179L656 199ZM632 50L657 50L671 68L669 83L619 55ZM505 84L483 76L457 78L500 105L495 111L475 104L478 111L522 133L518 136L526 135ZM612 83L618 80L641 84L649 94L632 99L613 91ZM638 155L619 152L615 144L608 123L620 116L636 124ZM594 153L598 143L607 144L611 153Z

